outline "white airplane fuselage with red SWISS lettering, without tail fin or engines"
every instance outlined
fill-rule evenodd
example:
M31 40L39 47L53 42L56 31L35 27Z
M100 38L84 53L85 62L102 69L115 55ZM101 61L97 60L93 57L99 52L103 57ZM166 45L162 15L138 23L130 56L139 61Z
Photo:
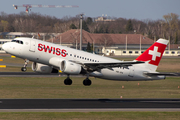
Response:
M23 43L9 42L4 44L4 49L6 52L15 55L17 57L28 59L33 62L42 63L45 65L54 66L50 59L58 58L59 60L74 61L77 63L112 63L120 62L119 60L91 54L88 52L68 48L65 46L60 46L57 44L44 42L32 38L16 38ZM47 48L47 49L45 49ZM122 61L123 62L123 61ZM103 68L98 71L89 73L90 76L109 79L109 80L125 80L125 81L135 81L135 80L158 80L164 79L165 76L146 76L145 72L151 72L151 70L145 65L134 64L128 68L114 67L112 69ZM60 66L59 66L60 67Z

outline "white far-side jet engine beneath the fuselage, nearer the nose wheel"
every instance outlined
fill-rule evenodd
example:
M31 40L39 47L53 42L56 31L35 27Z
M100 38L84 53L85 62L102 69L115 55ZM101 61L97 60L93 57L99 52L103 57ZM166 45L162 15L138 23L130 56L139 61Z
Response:
M32 70L39 73L58 73L58 70L53 67L36 62L32 63Z

